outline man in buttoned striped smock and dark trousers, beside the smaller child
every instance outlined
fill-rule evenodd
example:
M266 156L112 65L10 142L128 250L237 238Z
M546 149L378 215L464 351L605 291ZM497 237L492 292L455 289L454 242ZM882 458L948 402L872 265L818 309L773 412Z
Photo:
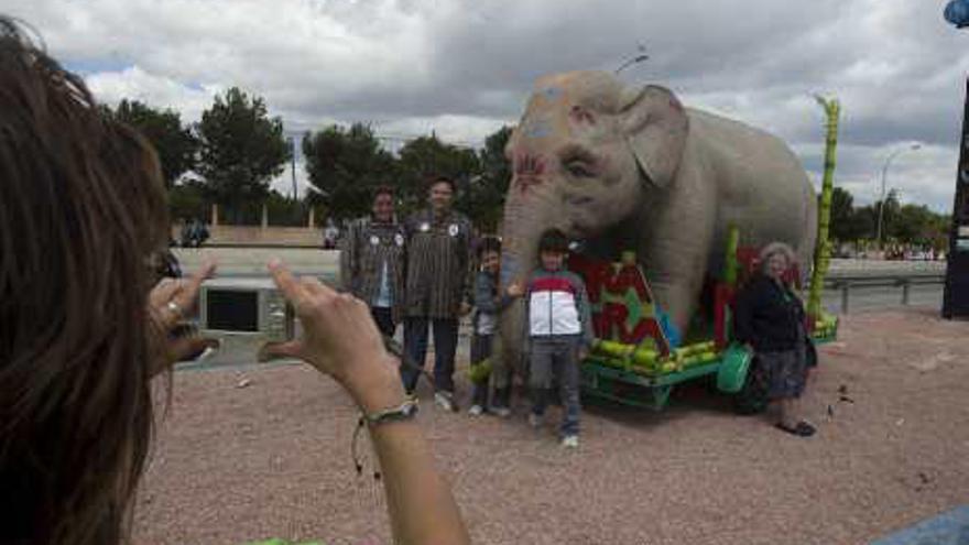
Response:
M404 225L407 274L404 291L404 345L412 366L401 375L407 392L417 386L427 353L427 330L434 328L434 401L456 411L454 361L458 317L470 310L471 222L450 208L454 181L439 176L431 185L431 207ZM414 367L416 366L416 368Z

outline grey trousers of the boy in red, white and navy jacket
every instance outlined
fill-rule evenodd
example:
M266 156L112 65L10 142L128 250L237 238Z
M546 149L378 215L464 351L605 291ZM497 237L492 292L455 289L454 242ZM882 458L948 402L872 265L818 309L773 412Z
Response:
M579 342L577 336L532 337L529 358L529 385L532 388L532 413L545 414L553 377L558 379L563 416L563 436L578 435L579 413Z

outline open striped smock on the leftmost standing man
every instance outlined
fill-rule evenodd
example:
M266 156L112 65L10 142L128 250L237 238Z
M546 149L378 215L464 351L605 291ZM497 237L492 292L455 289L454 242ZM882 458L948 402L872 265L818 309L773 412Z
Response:
M394 320L403 309L406 236L398 222L360 218L350 224L340 248L340 280L344 288L368 305L390 303ZM385 272L384 272L385 271ZM385 274L385 276L384 276ZM389 301L380 301L385 279Z

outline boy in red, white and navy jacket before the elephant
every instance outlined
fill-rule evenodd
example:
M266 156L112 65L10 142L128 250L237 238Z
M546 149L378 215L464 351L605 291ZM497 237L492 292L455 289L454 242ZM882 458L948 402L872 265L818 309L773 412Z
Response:
M532 414L529 422L542 424L553 377L558 379L563 403L562 445L579 445L579 362L592 344L589 299L583 280L564 270L568 239L549 229L538 242L540 263L529 276L527 287L512 285L509 294L525 296L529 342L529 385Z

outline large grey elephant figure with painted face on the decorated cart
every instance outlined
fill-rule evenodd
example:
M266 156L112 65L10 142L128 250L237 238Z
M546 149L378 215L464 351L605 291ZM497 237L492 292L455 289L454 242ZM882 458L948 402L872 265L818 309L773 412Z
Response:
M605 72L542 77L505 155L503 286L536 266L549 228L601 258L635 251L679 334L707 274L722 266L730 225L742 246L791 244L806 277L817 200L798 159L767 132L684 108L665 87L629 86ZM501 316L505 347L522 346L523 307Z

